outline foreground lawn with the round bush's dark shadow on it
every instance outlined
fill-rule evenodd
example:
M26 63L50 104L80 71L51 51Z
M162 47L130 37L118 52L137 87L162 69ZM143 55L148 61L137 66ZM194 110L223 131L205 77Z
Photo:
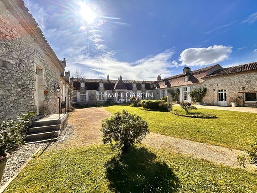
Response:
M168 193L257 191L257 173L147 146L118 157L108 145L43 153L5 193Z

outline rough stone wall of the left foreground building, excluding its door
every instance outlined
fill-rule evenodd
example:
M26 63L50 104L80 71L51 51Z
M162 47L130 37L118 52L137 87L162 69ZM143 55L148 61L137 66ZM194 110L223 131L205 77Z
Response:
M43 72L39 80L40 112L52 114L59 110L56 97L60 93L54 90L54 84L60 79L61 69L28 30L31 29L25 29L17 15L0 1L0 121L16 119L21 113L35 110L36 68ZM48 94L44 95L43 90Z

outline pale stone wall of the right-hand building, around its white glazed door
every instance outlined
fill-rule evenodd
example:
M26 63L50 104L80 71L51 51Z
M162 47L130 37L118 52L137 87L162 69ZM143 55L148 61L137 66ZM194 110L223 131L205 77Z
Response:
M257 71L236 73L223 76L206 78L203 84L207 88L203 102L205 104L218 105L218 90L225 89L227 92L227 106L230 106L231 97L243 97L242 93L257 91ZM242 87L245 87L242 90ZM243 100L238 106L243 105ZM245 102L244 106L257 107L255 102Z

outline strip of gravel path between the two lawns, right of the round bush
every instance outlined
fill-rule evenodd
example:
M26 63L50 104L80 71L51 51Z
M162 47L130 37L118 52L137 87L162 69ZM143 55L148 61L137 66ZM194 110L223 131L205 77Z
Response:
M143 143L157 149L172 150L177 153L190 155L194 158L205 159L214 163L228 165L230 167L241 167L237 156L243 151L229 149L221 146L207 145L191 140L150 133ZM257 169L254 165L247 165L249 169Z

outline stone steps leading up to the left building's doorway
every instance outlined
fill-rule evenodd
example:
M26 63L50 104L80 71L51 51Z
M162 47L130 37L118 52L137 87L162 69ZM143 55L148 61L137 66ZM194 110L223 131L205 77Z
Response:
M32 127L28 129L25 144L42 143L56 141L60 135L68 115L48 115L44 116L32 123Z

